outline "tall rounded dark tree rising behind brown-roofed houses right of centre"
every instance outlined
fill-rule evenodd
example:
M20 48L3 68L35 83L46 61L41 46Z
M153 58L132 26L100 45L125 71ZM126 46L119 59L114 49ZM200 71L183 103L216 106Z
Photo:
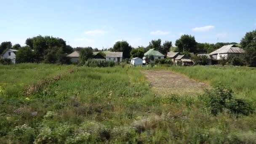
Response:
M178 47L179 51L188 51L195 52L197 42L195 41L195 37L191 35L181 35L181 37L176 40L175 45Z

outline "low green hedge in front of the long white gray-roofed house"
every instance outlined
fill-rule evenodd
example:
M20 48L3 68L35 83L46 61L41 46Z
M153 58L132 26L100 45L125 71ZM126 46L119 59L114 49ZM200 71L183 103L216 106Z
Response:
M88 59L85 62L86 67L115 67L114 61L105 61L105 60L96 60L96 59Z

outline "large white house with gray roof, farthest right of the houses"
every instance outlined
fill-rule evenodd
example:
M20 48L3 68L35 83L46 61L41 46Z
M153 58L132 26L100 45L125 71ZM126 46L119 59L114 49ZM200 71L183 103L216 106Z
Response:
M243 53L245 53L245 51L235 45L224 45L216 51L209 53L209 55L212 59L220 60L222 58L227 59L229 56L240 56Z

